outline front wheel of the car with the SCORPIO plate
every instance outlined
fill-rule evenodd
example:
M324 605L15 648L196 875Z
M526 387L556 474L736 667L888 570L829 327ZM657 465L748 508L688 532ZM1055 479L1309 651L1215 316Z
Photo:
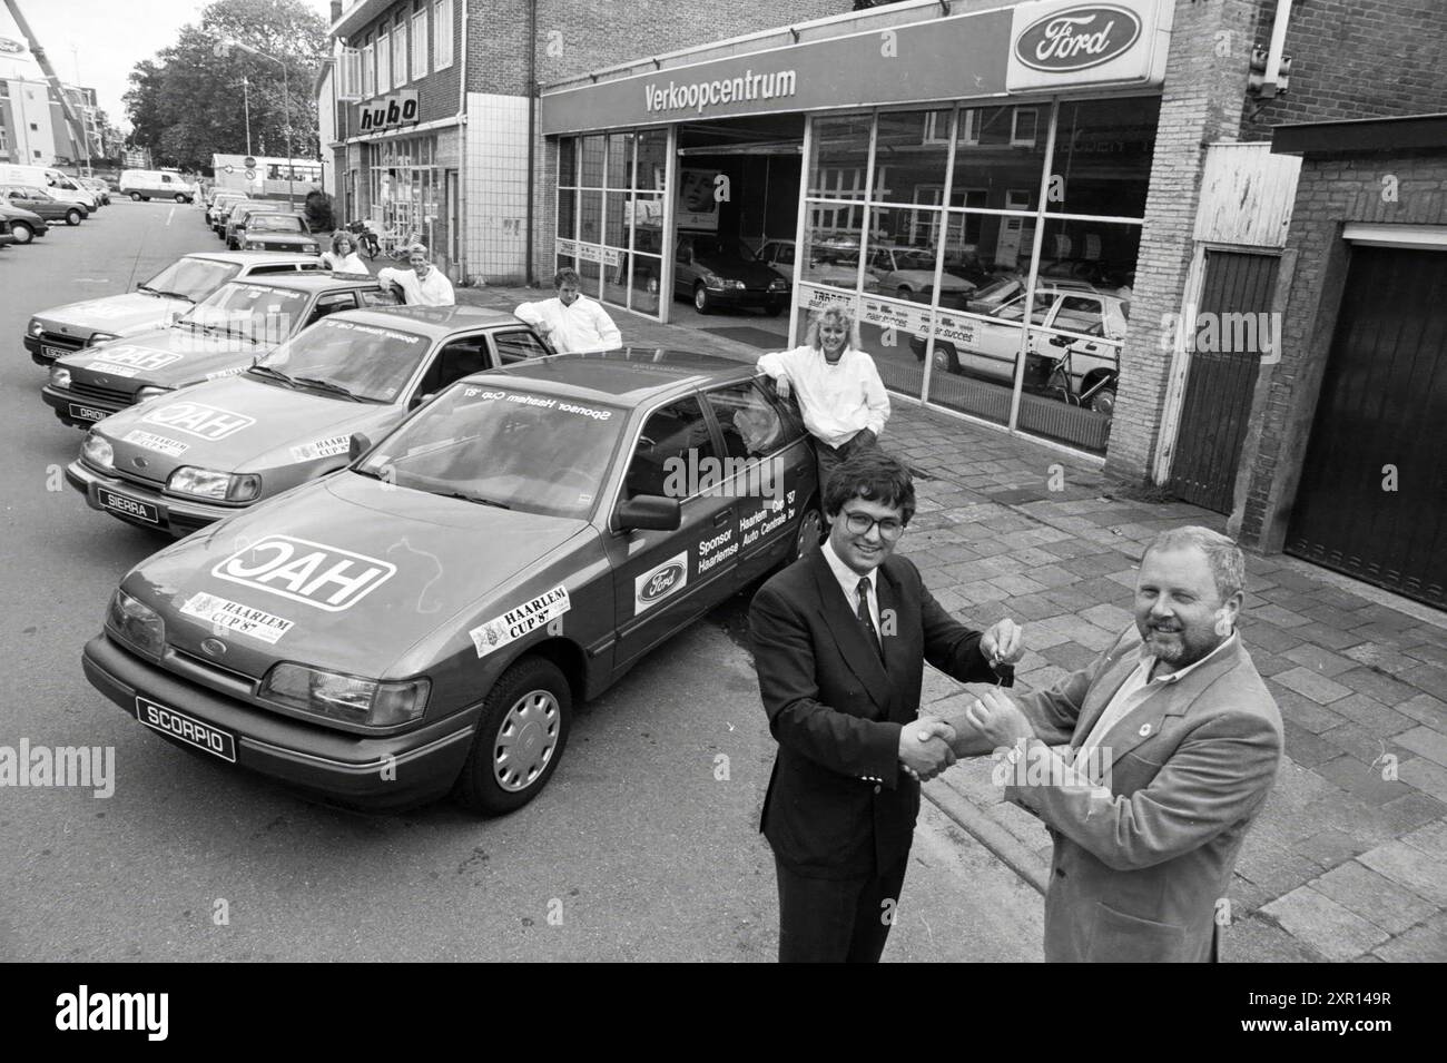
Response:
M501 816L537 797L563 759L573 691L551 661L524 657L488 691L472 751L453 785L464 808ZM511 762L514 751L521 756Z

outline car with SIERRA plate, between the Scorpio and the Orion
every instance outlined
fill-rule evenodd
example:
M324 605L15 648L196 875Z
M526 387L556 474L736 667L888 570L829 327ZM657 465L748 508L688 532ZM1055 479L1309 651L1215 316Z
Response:
M93 509L188 535L340 469L353 432L379 438L453 380L548 353L480 307L344 311L239 375L100 421L67 477Z

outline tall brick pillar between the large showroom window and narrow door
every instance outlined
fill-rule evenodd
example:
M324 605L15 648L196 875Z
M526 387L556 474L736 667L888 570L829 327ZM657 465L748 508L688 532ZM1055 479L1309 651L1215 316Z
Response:
M1250 49L1240 42L1249 40L1255 19L1253 0L1176 3L1106 451L1106 470L1127 480L1143 482L1155 456L1171 370L1171 353L1160 350L1162 323L1179 312L1185 292L1205 145L1237 139L1250 65Z

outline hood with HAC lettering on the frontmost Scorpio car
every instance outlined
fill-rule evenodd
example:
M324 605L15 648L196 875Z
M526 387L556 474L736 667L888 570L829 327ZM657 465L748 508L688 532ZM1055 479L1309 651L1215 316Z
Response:
M411 646L453 626L466 644L491 599L508 605L508 586L589 529L340 471L168 547L122 586L162 613L172 646L200 657L220 638L221 662L243 675L288 659L404 678L433 664L408 658ZM279 618L268 625L285 632L268 644L218 628L217 600Z

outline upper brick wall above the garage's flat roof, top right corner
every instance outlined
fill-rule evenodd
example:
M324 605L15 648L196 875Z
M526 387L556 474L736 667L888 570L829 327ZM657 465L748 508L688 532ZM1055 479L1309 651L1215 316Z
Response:
M1253 40L1270 45L1275 0L1265 0ZM1286 29L1286 94L1247 101L1243 140L1272 126L1380 119L1447 110L1447 3L1443 0L1297 0Z

